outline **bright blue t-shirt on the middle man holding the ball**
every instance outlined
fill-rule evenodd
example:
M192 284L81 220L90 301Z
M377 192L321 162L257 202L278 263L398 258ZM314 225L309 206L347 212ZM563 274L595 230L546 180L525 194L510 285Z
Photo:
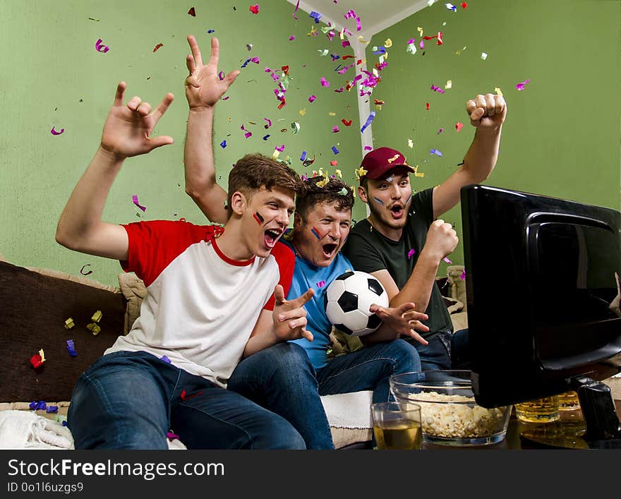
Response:
M289 245L296 255L294 277L291 281L291 289L289 289L287 299L296 299L301 294L306 293L308 288L312 288L315 291L313 299L310 299L304 305L308 313L306 315L306 320L308 321L306 329L313 333L313 341L309 342L306 338L293 339L291 341L296 342L306 350L310 363L317 370L326 366L326 352L331 344L330 332L332 331L332 323L327 319L323 306L325 291L330 282L354 267L351 266L346 256L340 252L337 253L330 266L316 267L298 255L289 241L284 238L281 241Z

